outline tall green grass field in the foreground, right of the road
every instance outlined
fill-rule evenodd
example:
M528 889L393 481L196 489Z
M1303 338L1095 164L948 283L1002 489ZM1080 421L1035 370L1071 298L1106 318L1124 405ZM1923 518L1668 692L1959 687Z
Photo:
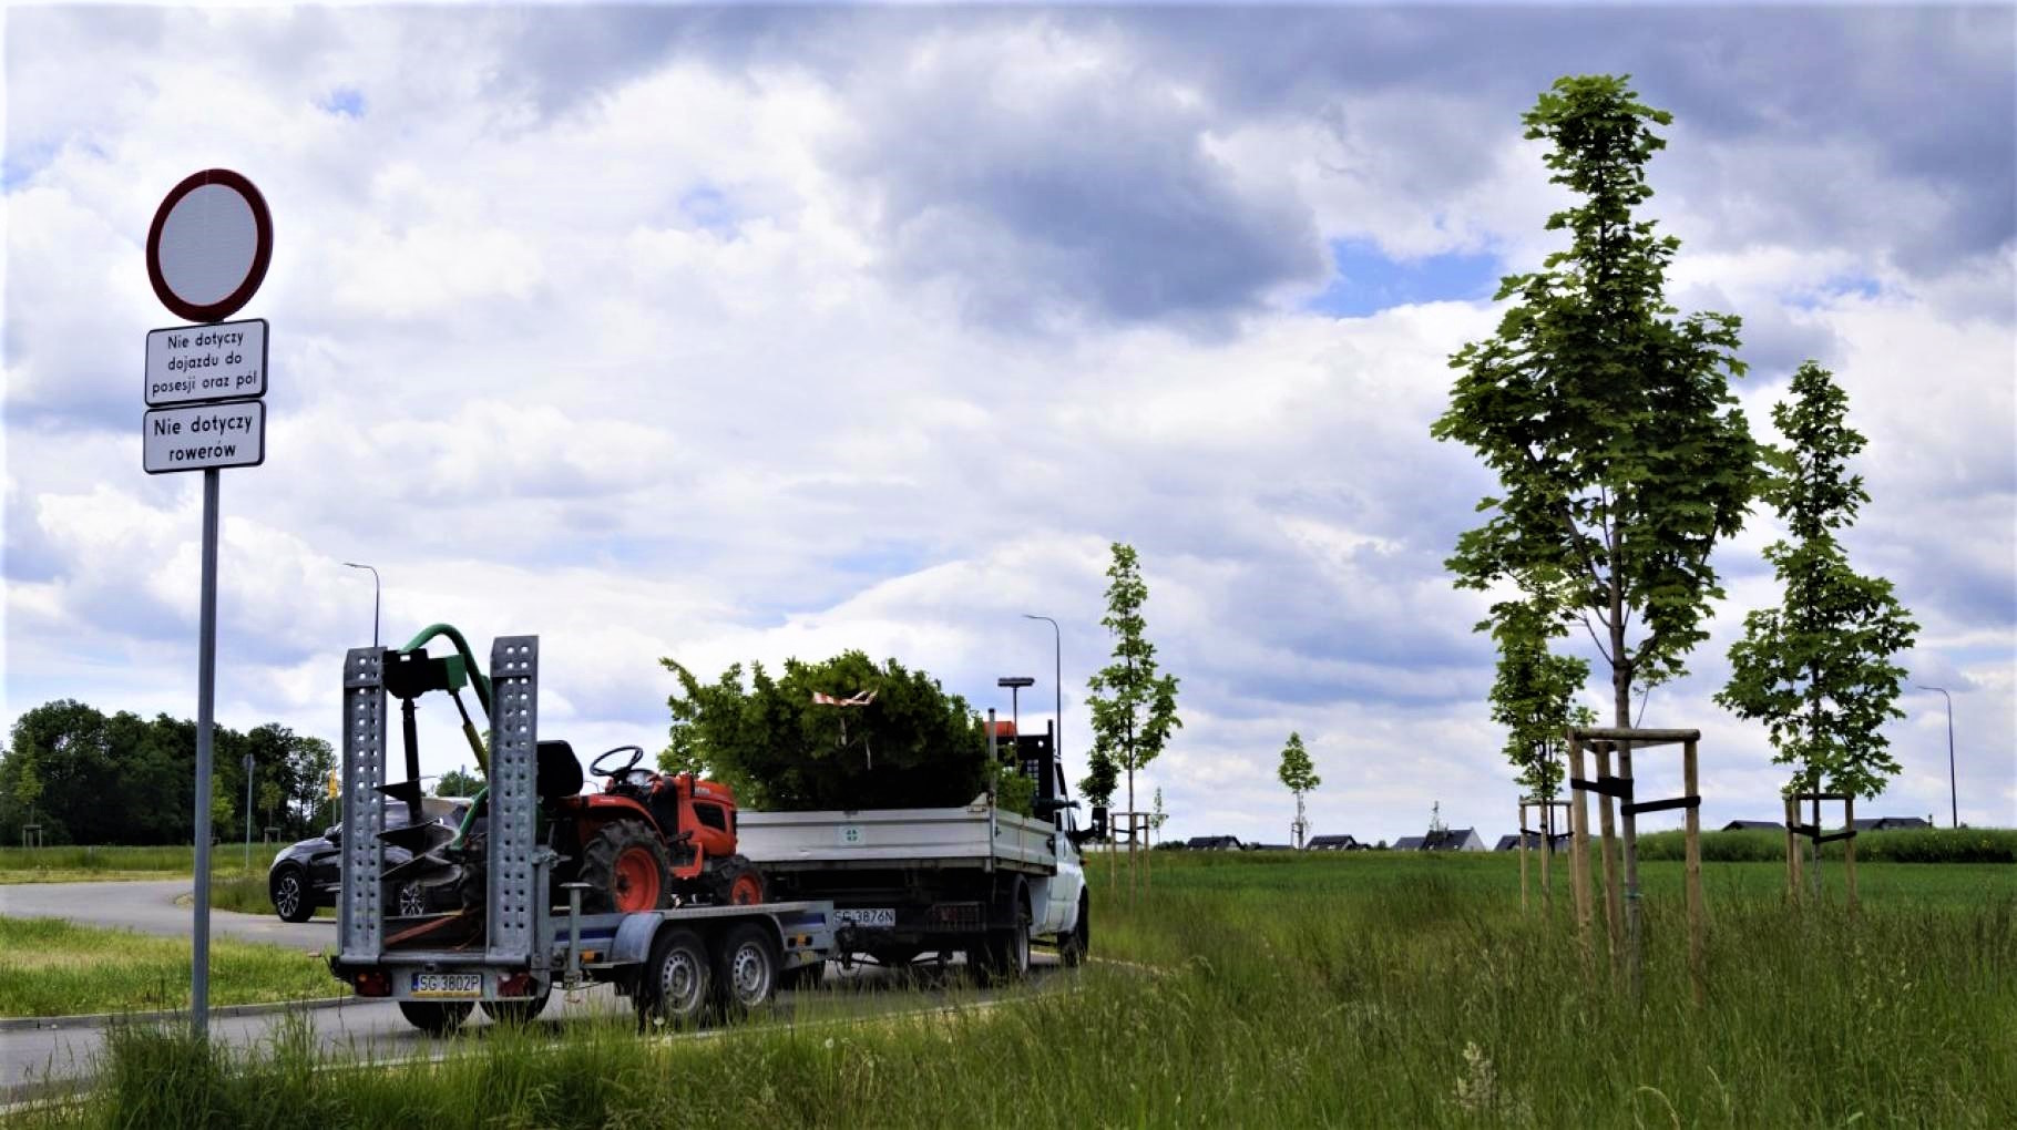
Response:
M623 1027L327 1067L123 1033L87 1126L2017 1126L2017 868L1860 868L1864 906L1785 906L1704 868L1690 1001L1678 864L1646 866L1646 995L1519 912L1515 862L1168 854L1130 908L1095 862L1099 963L952 1015L706 1041ZM1557 876L1563 882L1565 876ZM1825 870L1840 890L1840 868ZM1557 888L1565 892L1565 888ZM1152 967L1152 969L1142 969ZM958 999L958 997L954 997ZM565 1039L555 1041L555 1033ZM28 1124L34 1124L30 1120Z

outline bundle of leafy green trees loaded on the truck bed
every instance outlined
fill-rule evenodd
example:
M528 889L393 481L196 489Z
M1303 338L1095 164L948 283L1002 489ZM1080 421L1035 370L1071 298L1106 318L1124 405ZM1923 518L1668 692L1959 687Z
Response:
M702 765L748 807L900 809L964 805L988 789L986 732L956 694L896 660L875 666L863 652L821 664L785 660L783 678L742 664L704 684L676 660L668 698L672 745L660 765ZM821 706L813 694L867 706Z

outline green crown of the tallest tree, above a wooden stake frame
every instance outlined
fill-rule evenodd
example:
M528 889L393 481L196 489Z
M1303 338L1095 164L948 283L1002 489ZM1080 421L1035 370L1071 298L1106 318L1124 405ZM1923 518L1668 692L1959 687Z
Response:
M1553 143L1553 184L1581 202L1549 218L1569 248L1509 274L1497 333L1450 357L1450 408L1430 428L1499 474L1491 519L1458 537L1458 587L1543 587L1612 666L1618 724L1634 678L1672 678L1723 595L1710 545L1743 527L1757 450L1729 391L1739 319L1674 319L1666 266L1680 240L1634 210L1672 115L1618 77L1559 79L1523 121ZM1640 638L1628 638L1632 619ZM1601 628L1601 638L1599 630Z

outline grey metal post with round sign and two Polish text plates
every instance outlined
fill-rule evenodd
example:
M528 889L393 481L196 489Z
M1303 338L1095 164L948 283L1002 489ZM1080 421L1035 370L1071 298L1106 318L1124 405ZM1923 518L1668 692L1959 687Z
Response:
M147 230L147 280L173 315L210 323L147 335L143 400L173 404L141 418L147 474L204 472L204 577L196 630L196 890L190 1023L210 1035L210 761L218 688L218 468L266 460L266 323L214 325L238 313L266 278L272 216L250 180L230 170L184 178ZM246 813L250 817L250 773ZM250 856L250 829L246 837Z

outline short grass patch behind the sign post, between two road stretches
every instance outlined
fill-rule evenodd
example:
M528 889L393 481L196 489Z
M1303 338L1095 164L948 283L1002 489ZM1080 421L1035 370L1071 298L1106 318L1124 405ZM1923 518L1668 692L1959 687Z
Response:
M313 954L212 938L210 1001L337 997ZM147 1013L190 1005L190 942L56 918L0 916L0 1017Z

